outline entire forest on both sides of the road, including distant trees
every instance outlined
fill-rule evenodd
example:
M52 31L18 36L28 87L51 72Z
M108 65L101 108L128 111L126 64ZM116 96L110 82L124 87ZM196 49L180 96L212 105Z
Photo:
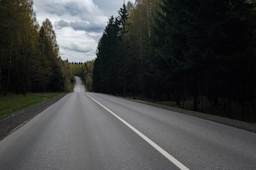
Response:
M40 26L32 0L0 1L0 92L87 91L218 106L256 120L255 0L136 0L111 16L97 58L59 56L53 25ZM210 105L209 105L210 103Z

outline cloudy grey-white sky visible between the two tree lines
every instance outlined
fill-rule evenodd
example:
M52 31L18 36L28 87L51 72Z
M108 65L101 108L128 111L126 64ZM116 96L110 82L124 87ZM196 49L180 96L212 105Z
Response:
M125 1L127 3L128 0ZM123 0L33 0L39 24L49 18L57 35L60 57L69 62L95 59L97 43L110 16Z

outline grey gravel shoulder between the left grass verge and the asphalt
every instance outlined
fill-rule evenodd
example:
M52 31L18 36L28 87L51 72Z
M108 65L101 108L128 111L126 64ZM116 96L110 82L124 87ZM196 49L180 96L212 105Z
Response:
M3 140L8 135L10 135L11 132L14 132L18 128L20 128L22 125L26 124L29 120L34 118L36 115L46 110L46 108L58 102L65 95L67 94L61 94L60 96L51 98L48 101L37 103L36 105L33 105L21 111L16 111L14 113L1 116L0 117L0 141Z

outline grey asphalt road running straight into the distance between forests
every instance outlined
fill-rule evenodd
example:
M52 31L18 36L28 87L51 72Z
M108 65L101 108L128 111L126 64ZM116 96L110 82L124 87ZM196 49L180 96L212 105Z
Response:
M85 93L76 81L0 142L0 169L256 169L255 133Z

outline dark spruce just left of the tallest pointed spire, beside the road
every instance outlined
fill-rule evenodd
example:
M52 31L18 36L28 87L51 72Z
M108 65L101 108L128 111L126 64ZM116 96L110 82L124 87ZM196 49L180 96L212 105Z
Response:
M93 69L93 89L97 92L115 94L119 90L119 25L113 16L102 34L97 47Z

